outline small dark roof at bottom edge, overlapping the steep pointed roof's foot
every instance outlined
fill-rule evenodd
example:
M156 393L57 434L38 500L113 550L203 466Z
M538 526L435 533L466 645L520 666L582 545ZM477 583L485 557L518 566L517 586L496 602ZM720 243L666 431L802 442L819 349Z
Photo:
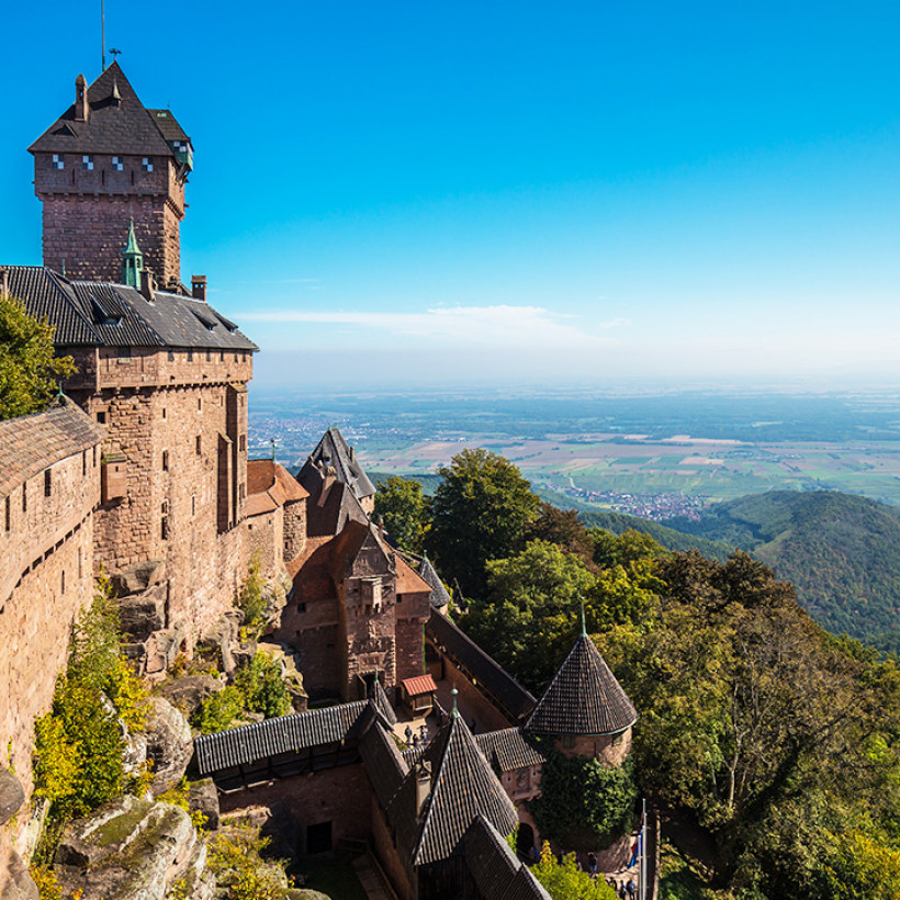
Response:
M491 900L550 900L547 889L483 815L476 815L469 826L463 848L465 865L482 897Z

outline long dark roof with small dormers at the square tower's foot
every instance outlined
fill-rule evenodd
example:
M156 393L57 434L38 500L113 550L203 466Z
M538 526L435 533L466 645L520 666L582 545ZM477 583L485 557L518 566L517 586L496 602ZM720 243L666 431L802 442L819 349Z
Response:
M10 293L54 326L57 347L259 348L204 301L124 284L69 281L43 266L8 266Z

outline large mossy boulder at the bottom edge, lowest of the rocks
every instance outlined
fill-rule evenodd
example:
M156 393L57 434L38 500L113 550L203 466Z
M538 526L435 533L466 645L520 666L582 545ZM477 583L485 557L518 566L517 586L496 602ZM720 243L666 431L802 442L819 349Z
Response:
M184 810L126 796L72 822L54 868L64 897L80 890L82 900L164 900L177 881L195 876L196 844Z

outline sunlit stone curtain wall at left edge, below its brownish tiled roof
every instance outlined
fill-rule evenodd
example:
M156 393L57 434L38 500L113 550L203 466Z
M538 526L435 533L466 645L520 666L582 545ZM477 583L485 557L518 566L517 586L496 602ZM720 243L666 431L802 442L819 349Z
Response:
M97 459L94 465L89 449L50 466L49 496L43 472L30 479L25 511L20 485L10 494L10 530L0 521L0 756L15 767L26 794L34 719L49 709L71 623L93 596L99 453Z

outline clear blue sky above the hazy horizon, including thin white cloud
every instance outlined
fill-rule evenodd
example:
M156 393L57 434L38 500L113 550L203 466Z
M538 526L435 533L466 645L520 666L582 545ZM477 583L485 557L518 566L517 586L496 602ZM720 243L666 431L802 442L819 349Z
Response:
M4 13L0 259L99 2ZM890 384L900 8L106 0L259 383ZM31 36L35 37L32 38Z

